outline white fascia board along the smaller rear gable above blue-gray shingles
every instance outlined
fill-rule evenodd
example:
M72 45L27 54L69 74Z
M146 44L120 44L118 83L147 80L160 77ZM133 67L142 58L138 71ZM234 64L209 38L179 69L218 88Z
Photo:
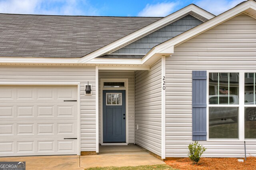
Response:
M205 10L199 8L198 6L195 6L194 4L188 5L181 10L178 10L177 12L174 12L173 14L170 14L158 21L155 21L154 23L151 23L147 25L146 27L143 27L139 29L138 31L135 31L133 33L130 33L129 35L126 35L125 37L118 39L117 41L114 41L113 43L110 43L109 45L106 45L84 57L79 59L79 63L87 63L88 61L99 57L100 55L103 55L104 53L107 53L108 51L111 51L112 49L118 48L126 43L129 43L130 41L133 41L137 37L143 36L145 33L148 33L154 29L158 29L161 25L164 25L166 23L171 23L172 21L176 21L177 19L185 16L189 12L195 12L200 13L201 16L204 18L207 18L210 20L214 17L214 15L210 14L209 12L206 12Z

